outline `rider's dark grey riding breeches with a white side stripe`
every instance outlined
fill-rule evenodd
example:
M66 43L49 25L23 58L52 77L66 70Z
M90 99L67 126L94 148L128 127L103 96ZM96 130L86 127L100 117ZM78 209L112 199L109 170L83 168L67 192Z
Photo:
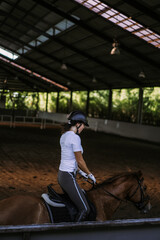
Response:
M84 196L83 191L79 187L74 173L71 172L58 172L58 182L61 188L67 193L71 201L78 208L79 212L86 212L86 215L90 212L90 207Z

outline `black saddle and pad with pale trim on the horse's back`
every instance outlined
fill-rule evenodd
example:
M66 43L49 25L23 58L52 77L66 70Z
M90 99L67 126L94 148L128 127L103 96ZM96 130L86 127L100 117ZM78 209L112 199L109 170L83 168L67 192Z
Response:
M58 194L53 188L52 184L47 186L48 193L42 194L42 199L48 210L51 223L59 222L74 222L75 217L78 214L78 209L73 202L69 199L67 194ZM86 196L86 195L85 195ZM87 199L87 196L86 196ZM90 206L90 214L87 216L85 221L96 220L96 209L95 206L89 199L87 199Z

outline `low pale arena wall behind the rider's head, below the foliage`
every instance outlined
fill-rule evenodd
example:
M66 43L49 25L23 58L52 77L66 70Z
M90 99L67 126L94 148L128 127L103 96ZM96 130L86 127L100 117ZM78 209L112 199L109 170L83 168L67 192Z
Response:
M51 119L57 123L64 123L66 122L67 114L39 112L39 117ZM88 118L88 121L90 129L94 131L160 143L160 127L112 121L108 119Z

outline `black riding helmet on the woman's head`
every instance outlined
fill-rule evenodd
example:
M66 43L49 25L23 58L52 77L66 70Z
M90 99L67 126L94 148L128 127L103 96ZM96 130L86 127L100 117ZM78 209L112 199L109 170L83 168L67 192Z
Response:
M89 127L86 115L82 111L73 111L68 116L68 124L72 126L76 123L84 123L85 126Z

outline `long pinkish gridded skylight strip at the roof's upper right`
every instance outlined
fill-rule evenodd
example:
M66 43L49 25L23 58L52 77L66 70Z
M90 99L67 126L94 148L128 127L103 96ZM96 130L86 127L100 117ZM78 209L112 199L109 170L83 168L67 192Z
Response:
M96 12L98 15L113 22L121 28L131 32L144 41L160 48L160 35L154 33L150 29L137 23L136 21L128 18L124 14L109 7L107 4L102 3L99 0L74 0L79 4L89 8L91 11Z

